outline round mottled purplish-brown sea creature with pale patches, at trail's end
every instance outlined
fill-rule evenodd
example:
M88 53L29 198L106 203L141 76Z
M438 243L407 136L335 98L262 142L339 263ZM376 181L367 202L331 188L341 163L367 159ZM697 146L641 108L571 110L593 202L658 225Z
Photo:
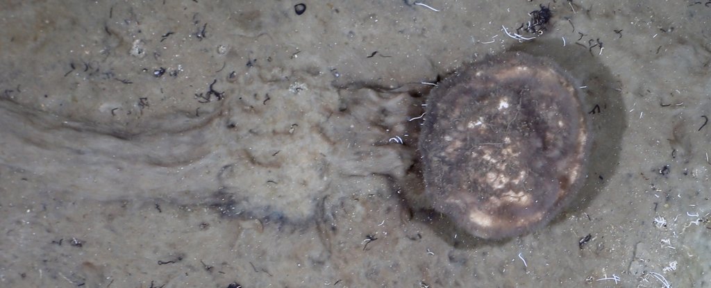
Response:
M419 139L434 208L480 238L545 225L584 178L576 82L524 53L489 56L434 88Z

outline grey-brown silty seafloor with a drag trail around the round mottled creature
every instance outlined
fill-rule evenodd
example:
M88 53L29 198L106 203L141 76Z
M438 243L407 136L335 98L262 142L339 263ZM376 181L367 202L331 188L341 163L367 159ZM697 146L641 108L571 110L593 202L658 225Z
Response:
M711 2L299 3L0 1L0 287L711 286ZM507 50L579 80L594 143L492 242L417 137L427 83Z

